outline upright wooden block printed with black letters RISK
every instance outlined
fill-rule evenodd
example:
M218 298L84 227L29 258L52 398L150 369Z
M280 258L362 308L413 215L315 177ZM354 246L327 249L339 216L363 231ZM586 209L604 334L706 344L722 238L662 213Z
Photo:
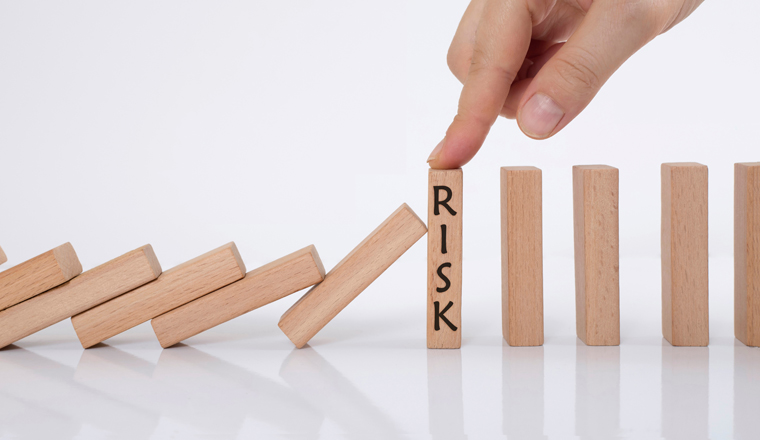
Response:
M462 345L462 169L428 172L428 348Z

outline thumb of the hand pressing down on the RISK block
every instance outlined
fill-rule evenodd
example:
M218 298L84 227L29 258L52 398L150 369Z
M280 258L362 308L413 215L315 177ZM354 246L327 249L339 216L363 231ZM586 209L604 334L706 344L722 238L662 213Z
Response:
M526 89L517 110L523 133L546 139L562 130L620 65L659 33L646 3L591 5L578 30Z

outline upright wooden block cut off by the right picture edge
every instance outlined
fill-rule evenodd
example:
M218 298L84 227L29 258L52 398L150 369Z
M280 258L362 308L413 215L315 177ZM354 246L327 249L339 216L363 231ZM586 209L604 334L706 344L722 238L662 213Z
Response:
M760 346L760 162L734 165L734 334Z

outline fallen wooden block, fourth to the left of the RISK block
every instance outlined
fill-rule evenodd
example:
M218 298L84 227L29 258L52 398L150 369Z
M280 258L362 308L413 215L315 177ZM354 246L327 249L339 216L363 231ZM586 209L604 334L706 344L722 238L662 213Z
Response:
M115 298L161 274L150 245L0 312L0 347Z

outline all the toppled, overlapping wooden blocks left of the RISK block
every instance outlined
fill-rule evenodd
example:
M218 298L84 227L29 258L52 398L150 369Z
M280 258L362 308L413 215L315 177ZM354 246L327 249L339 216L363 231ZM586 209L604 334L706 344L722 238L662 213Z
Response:
M404 204L326 275L314 246L246 273L234 243L165 272L146 245L82 273L66 243L0 273L0 347L69 317L84 348L149 320L169 347L313 286L279 322L300 348L426 232Z

